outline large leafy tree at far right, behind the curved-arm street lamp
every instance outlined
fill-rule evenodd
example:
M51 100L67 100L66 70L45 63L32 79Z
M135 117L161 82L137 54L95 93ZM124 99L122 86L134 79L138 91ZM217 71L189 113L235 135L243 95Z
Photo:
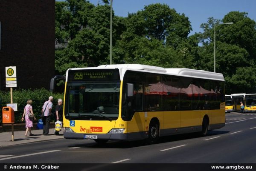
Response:
M196 36L203 46L199 48L199 68L213 71L214 25L233 22L232 25L218 25L216 28L216 71L224 75L226 94L251 92L255 90L255 47L256 25L247 13L232 11L223 20L212 17L201 24L203 33Z

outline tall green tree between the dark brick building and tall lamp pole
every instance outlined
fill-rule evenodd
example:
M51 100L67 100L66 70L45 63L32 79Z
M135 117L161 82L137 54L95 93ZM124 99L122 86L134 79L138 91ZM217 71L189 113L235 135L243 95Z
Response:
M67 0L56 2L55 8L56 41L67 46L55 51L56 73L65 74L70 67L108 64L110 6ZM125 18L113 16L113 46L126 29L124 23ZM116 56L113 60L119 62L120 58Z

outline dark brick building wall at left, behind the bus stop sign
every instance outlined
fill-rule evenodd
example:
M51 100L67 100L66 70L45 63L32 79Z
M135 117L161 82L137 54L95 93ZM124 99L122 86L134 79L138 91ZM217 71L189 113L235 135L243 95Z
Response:
M0 89L5 67L16 66L17 86L47 88L54 76L55 0L0 0Z

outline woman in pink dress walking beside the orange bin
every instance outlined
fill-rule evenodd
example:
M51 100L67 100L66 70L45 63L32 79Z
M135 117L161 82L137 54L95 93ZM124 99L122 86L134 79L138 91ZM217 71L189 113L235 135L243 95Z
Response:
M24 108L24 112L23 112L23 116L22 116L22 121L24 120L24 116L25 116L25 122L26 122L26 133L25 136L32 136L34 134L31 133L31 128L33 127L33 121L29 119L29 112L33 115L34 119L35 119L35 115L33 113L32 110L32 100L28 100L27 101L27 105ZM29 135L27 135L29 131Z

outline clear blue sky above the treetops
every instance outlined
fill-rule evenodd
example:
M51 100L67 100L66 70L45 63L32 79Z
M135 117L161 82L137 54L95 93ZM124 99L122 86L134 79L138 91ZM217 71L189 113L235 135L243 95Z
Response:
M95 6L102 2L89 1ZM128 13L136 13L153 3L167 4L177 13L189 17L193 29L189 35L203 32L200 25L207 23L209 17L222 20L230 11L247 12L248 17L256 21L256 0L113 0L112 7L115 15L127 17Z

